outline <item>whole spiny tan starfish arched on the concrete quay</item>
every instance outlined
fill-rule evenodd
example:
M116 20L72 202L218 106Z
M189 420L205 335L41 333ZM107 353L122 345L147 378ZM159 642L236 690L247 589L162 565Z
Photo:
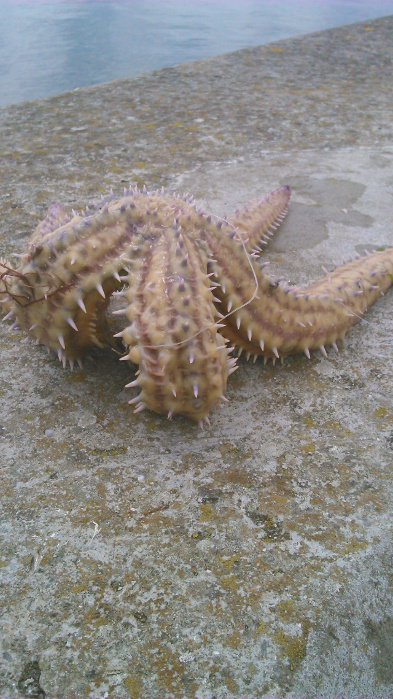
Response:
M266 276L256 259L287 212L280 187L229 218L193 197L125 189L68 216L52 204L16 268L0 260L0 303L37 344L71 368L92 346L121 340L139 364L134 412L150 408L209 421L235 371L230 341L249 354L284 357L336 342L390 286L393 249L352 260L306 289ZM266 263L265 263L266 264ZM114 340L111 295L126 322Z

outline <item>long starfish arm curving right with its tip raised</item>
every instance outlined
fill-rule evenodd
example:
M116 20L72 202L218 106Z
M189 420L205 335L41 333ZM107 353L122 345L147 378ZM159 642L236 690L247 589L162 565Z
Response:
M233 241L210 241L223 334L249 353L285 356L342 339L392 283L393 249L354 260L306 289L267 277ZM229 249L231 248L231 250Z

